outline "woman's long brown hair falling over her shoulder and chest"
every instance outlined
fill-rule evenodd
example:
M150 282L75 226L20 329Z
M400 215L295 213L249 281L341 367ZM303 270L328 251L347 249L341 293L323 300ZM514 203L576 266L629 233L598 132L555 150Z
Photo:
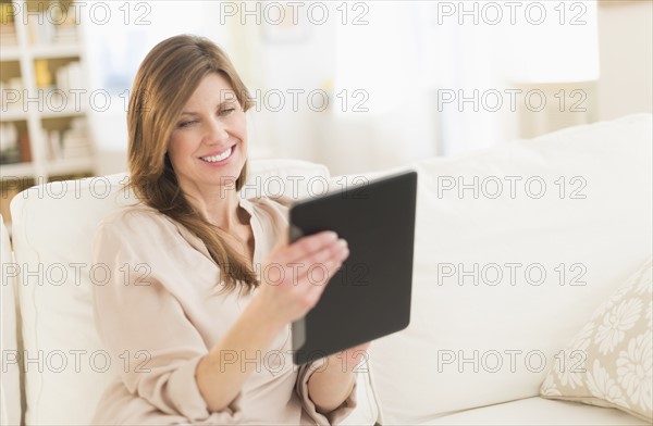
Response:
M204 241L220 266L223 290L251 290L258 285L246 258L225 242L226 234L206 221L186 199L168 158L168 142L178 116L210 74L222 75L236 93L244 111L252 102L233 64L215 43L202 37L181 35L161 41L147 54L134 79L127 129L130 135L130 187L145 204L185 226ZM247 176L247 161L236 179L241 190Z

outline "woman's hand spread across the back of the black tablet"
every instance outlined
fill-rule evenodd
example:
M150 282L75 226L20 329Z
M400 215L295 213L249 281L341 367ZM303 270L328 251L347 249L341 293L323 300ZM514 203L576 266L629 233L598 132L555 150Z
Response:
M282 235L282 241L261 265L257 297L271 318L286 324L303 317L318 303L349 249L331 230L301 237L292 245L287 241L287 226Z

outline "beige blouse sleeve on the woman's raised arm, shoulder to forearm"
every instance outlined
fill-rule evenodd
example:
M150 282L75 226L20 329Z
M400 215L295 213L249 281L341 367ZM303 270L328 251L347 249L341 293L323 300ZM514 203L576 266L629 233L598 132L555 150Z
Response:
M195 371L208 349L168 288L190 279L175 266L182 242L170 226L145 213L100 224L93 268L103 270L108 279L94 285L98 331L132 394L190 422L235 424L241 394L222 412L210 413L197 386Z

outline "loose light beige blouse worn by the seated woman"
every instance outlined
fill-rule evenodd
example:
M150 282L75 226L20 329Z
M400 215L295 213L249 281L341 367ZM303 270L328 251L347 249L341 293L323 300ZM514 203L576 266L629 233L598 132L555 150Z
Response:
M260 265L287 224L287 206L269 198L239 202L251 217L254 264ZM94 286L94 301L98 331L118 366L95 424L328 425L356 406L354 388L334 412L316 411L307 383L322 363L293 364L288 324L258 359L225 353L225 363L257 368L226 410L209 412L195 380L197 363L256 290L219 293L219 267L201 240L143 204L100 223L94 262L110 272L106 285Z

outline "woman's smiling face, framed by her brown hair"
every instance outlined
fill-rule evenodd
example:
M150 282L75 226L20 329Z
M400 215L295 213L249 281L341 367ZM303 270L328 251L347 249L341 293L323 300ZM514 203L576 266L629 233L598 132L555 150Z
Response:
M235 187L247 156L247 123L235 91L222 75L207 75L188 99L168 154L185 191Z

